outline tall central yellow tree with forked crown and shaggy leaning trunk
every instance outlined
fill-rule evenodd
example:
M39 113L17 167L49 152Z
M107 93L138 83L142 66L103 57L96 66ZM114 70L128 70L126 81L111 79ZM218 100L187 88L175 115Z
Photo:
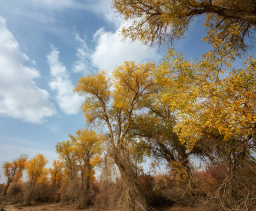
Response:
M135 166L127 145L131 122L139 112L142 98L150 96L154 81L149 76L152 63L125 62L114 70L112 81L105 72L82 77L75 90L85 94L82 106L87 122L107 125L109 155L118 166L123 182L124 210L144 210L145 200L138 190Z

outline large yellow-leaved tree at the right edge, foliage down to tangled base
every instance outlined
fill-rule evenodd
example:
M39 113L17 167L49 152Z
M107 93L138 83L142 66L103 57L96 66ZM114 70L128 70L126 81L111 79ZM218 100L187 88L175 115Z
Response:
M227 171L212 198L220 209L247 209L255 200L254 179L246 172L255 175L256 60L248 57L235 69L235 54L226 47L195 61L169 50L152 74L163 89L158 97L176 115L182 144L188 151L198 142L211 146Z

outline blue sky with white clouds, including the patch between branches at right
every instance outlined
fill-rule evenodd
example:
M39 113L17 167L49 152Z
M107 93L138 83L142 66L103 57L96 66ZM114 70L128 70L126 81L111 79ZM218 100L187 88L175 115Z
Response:
M175 46L186 57L210 49L203 20ZM0 0L0 164L38 152L51 164L56 142L87 127L73 92L87 74L125 60L159 60L166 51L121 42L122 18L109 0ZM2 173L2 169L0 170ZM1 176L4 181L4 175Z

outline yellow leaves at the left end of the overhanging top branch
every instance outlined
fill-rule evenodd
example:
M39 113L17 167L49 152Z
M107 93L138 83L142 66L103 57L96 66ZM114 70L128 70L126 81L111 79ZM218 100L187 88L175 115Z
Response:
M113 6L130 21L130 24L122 29L124 38L133 41L139 39L145 44L156 40L162 44L172 43L184 35L192 19L182 16L186 13L182 8L183 4L175 4L174 1L114 0Z

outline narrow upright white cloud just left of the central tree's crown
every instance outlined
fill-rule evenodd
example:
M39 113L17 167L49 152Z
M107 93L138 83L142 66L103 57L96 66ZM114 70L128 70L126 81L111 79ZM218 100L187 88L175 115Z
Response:
M52 52L47 56L48 64L51 69L52 80L49 86L56 91L56 100L59 107L66 114L77 114L84 97L74 93L74 86L69 79L66 67L59 62L59 51L52 46Z

